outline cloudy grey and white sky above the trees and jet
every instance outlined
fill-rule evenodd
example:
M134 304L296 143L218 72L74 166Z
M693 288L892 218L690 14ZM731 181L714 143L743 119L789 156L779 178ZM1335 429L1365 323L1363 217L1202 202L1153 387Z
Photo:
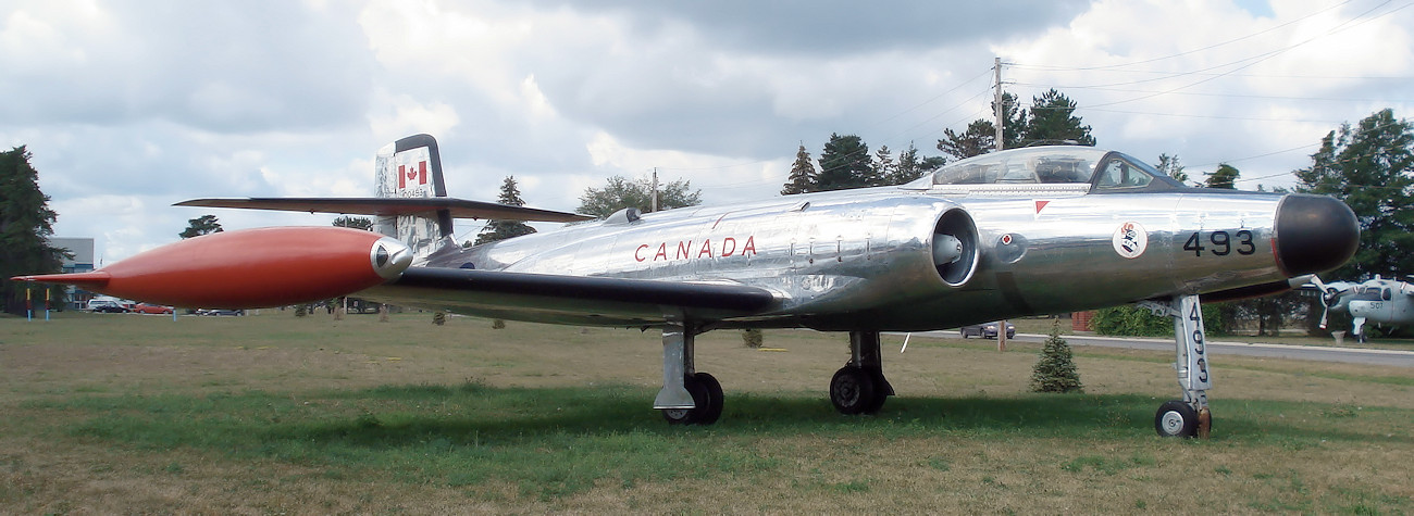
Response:
M0 0L0 146L33 153L55 233L112 263L205 213L328 225L171 204L372 195L373 153L416 133L460 198L515 175L573 211L653 167L704 204L766 198L831 133L942 154L990 117L1000 57L1008 92L1058 88L1100 147L1256 189L1343 122L1411 116L1411 3Z

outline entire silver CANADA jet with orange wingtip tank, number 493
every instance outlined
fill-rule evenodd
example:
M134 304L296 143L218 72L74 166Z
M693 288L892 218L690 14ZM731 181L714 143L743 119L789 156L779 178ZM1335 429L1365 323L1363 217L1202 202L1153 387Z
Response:
M447 198L437 141L376 156L376 198L216 198L182 206L378 216L376 232L264 228L199 236L98 271L23 276L177 307L255 308L338 295L503 319L662 331L669 423L711 424L721 385L694 338L723 328L848 332L830 380L844 414L881 410L880 332L957 328L1141 303L1172 317L1182 399L1161 435L1206 435L1202 300L1288 290L1359 240L1329 197L1185 187L1094 147L997 151L913 182L691 206L462 247L454 218L587 216Z

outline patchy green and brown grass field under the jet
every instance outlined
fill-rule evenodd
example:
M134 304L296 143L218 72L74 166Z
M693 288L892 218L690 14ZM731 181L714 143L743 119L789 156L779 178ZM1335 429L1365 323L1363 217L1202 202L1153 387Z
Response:
M1172 353L921 339L875 417L843 335L699 338L723 420L650 407L656 332L430 314L0 318L0 513L1414 512L1414 370L1219 356L1213 438L1162 440Z

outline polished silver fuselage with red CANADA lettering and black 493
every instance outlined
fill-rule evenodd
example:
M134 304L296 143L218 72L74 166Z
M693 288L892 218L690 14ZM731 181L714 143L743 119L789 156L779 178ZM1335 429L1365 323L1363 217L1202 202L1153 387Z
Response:
M619 213L428 266L735 283L769 290L776 304L710 321L715 327L923 331L1285 280L1273 243L1282 198L1198 188L1092 194L1086 184L881 187ZM939 233L964 240L966 256L939 267ZM584 314L513 318L652 322L588 304Z

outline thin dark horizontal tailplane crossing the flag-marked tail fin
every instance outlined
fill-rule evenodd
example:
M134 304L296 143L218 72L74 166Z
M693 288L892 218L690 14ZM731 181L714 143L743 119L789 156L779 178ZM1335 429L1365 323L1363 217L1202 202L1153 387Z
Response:
M320 212L320 213L349 213L349 215L427 215L438 209L451 212L458 219L496 219L496 221L530 221L530 222L578 222L590 221L594 216L580 213L554 212L547 209L509 206L495 202L454 199L448 197L430 198L228 198L228 199L191 199L175 204L177 206L202 208L240 208L240 209L274 209L287 212Z

